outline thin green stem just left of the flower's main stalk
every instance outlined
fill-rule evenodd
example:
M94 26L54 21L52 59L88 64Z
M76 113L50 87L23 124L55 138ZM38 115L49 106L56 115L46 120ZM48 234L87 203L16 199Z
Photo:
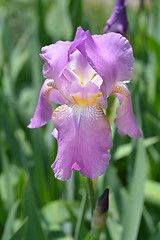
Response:
M81 230L84 222L84 216L85 216L85 211L86 211L86 206L87 206L87 192L84 190L83 196L82 196L82 201L81 201L81 207L79 211L79 216L78 216L78 221L76 225L76 230L75 230L75 236L74 240L81 240Z

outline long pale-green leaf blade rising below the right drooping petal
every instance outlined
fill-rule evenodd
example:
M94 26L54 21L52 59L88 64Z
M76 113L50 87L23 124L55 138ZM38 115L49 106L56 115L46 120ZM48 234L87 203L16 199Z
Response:
M145 148L143 140L137 141L137 154L130 194L125 208L122 240L136 240L144 202L144 183L146 176Z

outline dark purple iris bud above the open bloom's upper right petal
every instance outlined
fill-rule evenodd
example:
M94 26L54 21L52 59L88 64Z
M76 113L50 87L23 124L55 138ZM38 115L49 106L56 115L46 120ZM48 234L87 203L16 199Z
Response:
M104 32L117 32L122 35L128 29L128 20L126 15L126 2L125 0L117 0L114 10L110 18L106 22Z

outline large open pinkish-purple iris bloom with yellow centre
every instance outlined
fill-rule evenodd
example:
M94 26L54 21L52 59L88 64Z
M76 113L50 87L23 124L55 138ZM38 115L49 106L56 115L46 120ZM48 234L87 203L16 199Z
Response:
M91 179L102 175L112 148L110 124L102 107L114 94L120 102L115 124L120 135L142 136L131 96L124 81L133 70L132 47L117 33L91 36L77 29L73 42L58 41L42 48L45 61L38 105L29 128L44 126L51 118L58 153L52 168L55 177L68 180L72 170ZM61 106L52 113L51 101Z

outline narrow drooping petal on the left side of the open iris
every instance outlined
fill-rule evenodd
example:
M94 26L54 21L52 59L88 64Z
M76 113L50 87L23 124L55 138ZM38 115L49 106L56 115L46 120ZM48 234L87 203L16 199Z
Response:
M50 104L50 92L55 89L55 83L53 80L46 80L41 88L39 100L36 111L28 128L39 128L44 126L52 118L52 105ZM55 91L57 91L55 89ZM56 102L56 96L54 97ZM64 103L64 102L63 102Z

